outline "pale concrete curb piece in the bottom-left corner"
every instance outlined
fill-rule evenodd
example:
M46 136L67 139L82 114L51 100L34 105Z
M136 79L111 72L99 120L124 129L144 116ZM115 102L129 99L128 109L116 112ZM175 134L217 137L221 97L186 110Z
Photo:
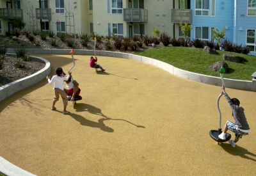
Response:
M0 156L0 170L4 175L35 176L26 170L22 170Z

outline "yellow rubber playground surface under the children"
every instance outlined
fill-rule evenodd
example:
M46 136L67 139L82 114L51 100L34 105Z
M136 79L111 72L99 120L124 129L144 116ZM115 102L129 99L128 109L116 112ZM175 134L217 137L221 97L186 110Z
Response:
M70 55L38 55L67 73ZM72 76L82 100L51 111L53 85L44 79L0 102L0 156L35 175L255 175L256 93L240 100L252 132L236 148L217 145L220 86L173 76L132 60L98 56L106 72L74 55ZM225 77L225 75L224 75ZM221 128L233 120L220 99ZM230 131L229 131L230 132ZM232 134L232 139L234 134Z

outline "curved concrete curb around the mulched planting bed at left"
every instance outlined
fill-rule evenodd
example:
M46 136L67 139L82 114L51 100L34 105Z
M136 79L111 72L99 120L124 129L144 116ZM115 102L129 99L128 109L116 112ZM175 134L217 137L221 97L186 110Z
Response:
M9 55L14 55L10 54ZM35 74L32 74L30 76L24 77L22 79L19 79L17 81L13 81L12 83L6 84L4 86L0 87L0 101L6 99L10 95L12 95L15 92L19 92L20 90L24 88L28 88L29 86L32 86L35 83L38 83L42 79L44 79L47 75L51 72L51 63L49 61L45 60L44 58L39 58L36 56L31 56L33 58L38 58L40 60L45 61L45 67L36 72Z

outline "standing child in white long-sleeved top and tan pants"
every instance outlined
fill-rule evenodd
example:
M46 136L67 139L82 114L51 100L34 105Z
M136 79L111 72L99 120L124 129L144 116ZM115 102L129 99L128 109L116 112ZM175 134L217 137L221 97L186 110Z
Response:
M52 84L54 83L54 93L55 93L55 97L52 101L52 108L51 110L56 110L56 108L54 107L56 102L60 99L60 95L61 98L63 100L63 114L69 114L70 112L67 111L67 105L68 105L68 100L67 100L67 93L64 91L64 82L63 81L67 81L68 78L70 77L71 73L68 73L68 76L65 77L65 73L63 72L61 67L58 67L56 69L56 75L52 76L52 79L50 80L50 76L47 76L46 79L48 79L48 83Z

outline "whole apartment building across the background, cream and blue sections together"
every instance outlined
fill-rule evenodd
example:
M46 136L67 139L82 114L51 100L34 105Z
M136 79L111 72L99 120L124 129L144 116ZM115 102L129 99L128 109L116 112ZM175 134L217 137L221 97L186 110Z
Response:
M0 0L1 34L12 31L13 19L22 19L29 30L132 37L156 28L175 38L186 22L191 39L208 41L212 29L225 26L225 38L256 55L256 0Z

